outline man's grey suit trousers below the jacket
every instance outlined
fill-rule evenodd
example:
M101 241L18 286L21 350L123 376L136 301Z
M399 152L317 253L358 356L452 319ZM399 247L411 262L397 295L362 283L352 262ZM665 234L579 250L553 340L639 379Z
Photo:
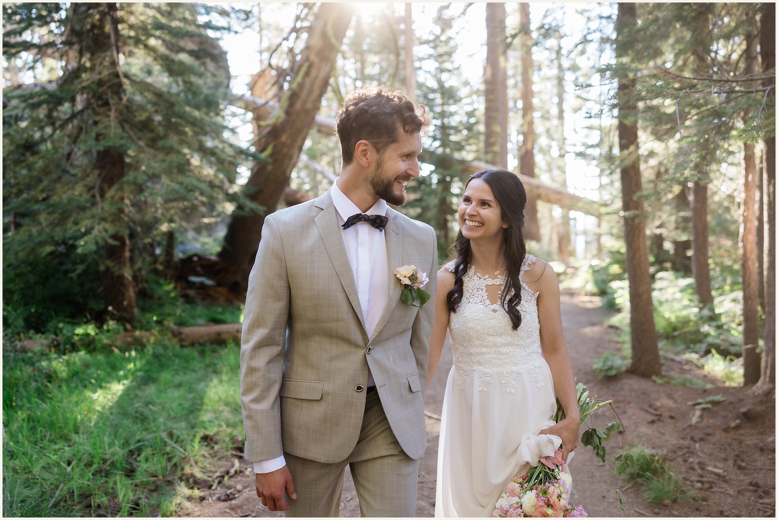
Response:
M354 451L325 464L284 453L297 500L286 498L289 517L340 515L343 475L348 464L363 517L412 517L416 511L419 461L405 455L384 414L378 392L368 392L362 430Z

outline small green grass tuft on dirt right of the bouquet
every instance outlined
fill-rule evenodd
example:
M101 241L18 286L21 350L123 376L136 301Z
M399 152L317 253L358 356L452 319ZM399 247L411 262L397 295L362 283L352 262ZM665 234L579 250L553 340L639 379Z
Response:
M648 448L636 446L629 450L635 458L635 466L626 469L626 480L636 482L643 489L646 501L671 504L677 500L691 500L692 490L683 479L672 473L661 455L652 455Z

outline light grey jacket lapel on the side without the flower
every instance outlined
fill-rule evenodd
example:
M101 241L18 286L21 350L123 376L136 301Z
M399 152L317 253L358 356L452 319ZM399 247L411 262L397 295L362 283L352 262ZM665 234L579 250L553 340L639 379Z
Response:
M335 209L335 204L332 203L329 191L317 199L316 207L324 210L314 219L321 235L321 240L324 241L324 248L327 250L330 261L335 267L335 272L338 273L343 289L349 297L349 301L352 307L354 307L354 311L356 311L359 322L364 329L365 318L362 315L362 307L359 305L359 294L356 292L354 272L351 269L351 264L349 264L349 257L345 254L343 235L341 234L340 226L338 226L338 213Z

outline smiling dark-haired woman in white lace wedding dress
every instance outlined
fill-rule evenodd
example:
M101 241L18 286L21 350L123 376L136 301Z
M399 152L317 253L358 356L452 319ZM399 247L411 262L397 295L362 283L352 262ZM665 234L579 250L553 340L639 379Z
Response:
M427 386L450 330L435 516L491 516L507 483L529 467L524 434L578 444L573 365L562 336L559 283L524 244L527 195L516 175L483 170L465 185L457 258L438 272ZM553 424L556 398L566 419ZM548 427L549 424L553 424Z

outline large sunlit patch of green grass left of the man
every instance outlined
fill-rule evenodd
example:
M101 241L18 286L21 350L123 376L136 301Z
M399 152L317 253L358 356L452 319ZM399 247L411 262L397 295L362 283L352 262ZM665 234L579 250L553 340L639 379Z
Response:
M6 355L3 515L186 512L185 483L207 466L200 439L242 434L239 348Z

